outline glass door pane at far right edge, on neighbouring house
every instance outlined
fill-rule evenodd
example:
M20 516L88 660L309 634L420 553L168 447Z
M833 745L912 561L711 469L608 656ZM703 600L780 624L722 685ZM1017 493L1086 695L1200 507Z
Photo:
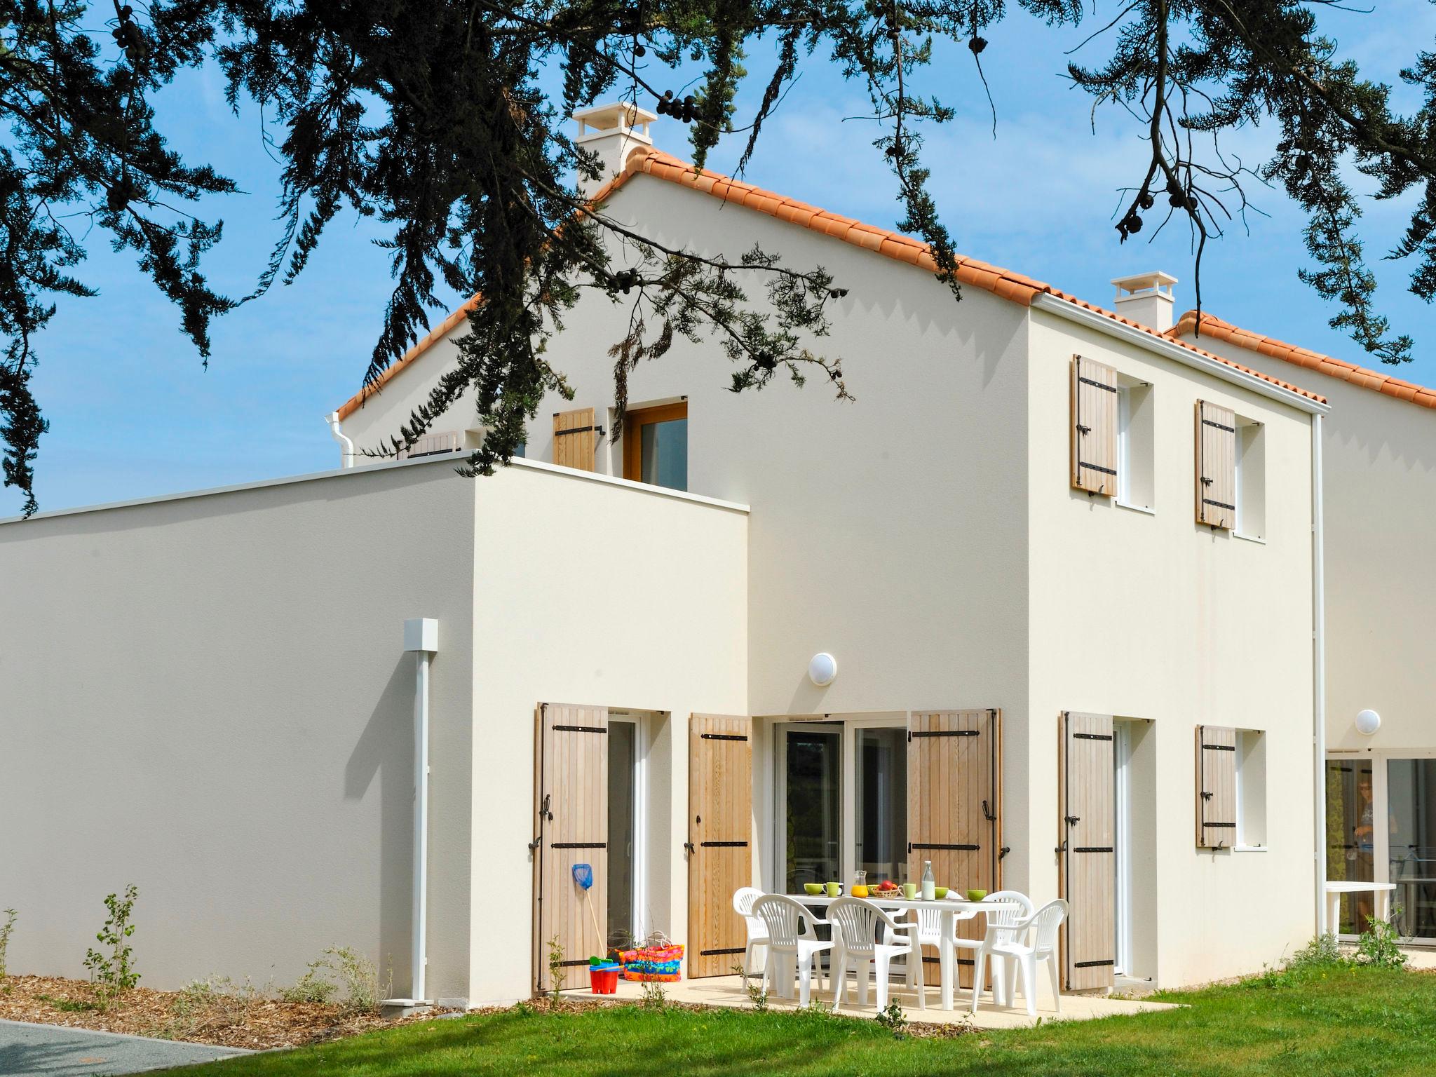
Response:
M1387 760L1393 915L1400 935L1436 938L1436 760Z

